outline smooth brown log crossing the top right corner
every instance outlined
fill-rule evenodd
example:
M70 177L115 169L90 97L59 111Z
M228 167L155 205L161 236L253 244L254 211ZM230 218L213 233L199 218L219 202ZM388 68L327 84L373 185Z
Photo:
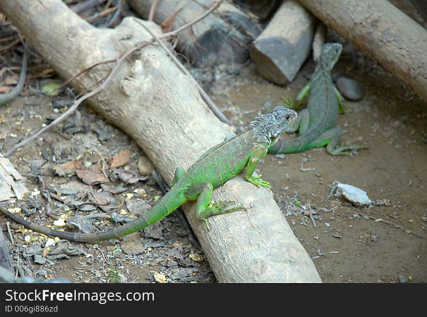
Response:
M300 0L427 101L427 30L386 0Z

